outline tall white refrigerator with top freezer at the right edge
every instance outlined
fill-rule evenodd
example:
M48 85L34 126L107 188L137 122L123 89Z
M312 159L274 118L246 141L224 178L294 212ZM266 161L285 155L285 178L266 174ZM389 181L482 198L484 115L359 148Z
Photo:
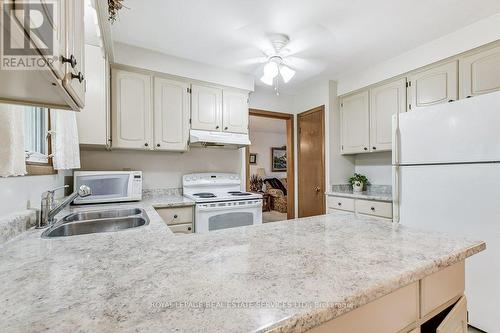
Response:
M466 262L469 324L500 332L500 93L401 114L393 132L395 221L486 242Z

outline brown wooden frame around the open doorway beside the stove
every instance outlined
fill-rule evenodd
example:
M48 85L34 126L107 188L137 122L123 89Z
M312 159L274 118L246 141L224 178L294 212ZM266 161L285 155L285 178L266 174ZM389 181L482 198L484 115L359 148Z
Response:
M286 121L286 154L287 154L287 218L295 218L295 142L294 142L294 115L289 113L250 109L250 116L281 119ZM250 148L245 148L246 189L250 191Z

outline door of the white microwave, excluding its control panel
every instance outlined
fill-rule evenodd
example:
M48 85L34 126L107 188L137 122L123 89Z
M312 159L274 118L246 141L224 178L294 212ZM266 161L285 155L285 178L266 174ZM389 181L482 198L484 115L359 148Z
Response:
M92 195L77 198L74 202L87 204L131 200L132 177L131 173L77 175L74 187L77 189L81 185L87 185L92 190Z

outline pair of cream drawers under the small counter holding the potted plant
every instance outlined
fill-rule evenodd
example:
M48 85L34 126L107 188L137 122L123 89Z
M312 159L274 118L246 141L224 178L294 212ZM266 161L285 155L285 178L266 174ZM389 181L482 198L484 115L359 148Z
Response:
M328 213L346 211L392 219L391 202L344 198L330 195L327 198L327 205Z

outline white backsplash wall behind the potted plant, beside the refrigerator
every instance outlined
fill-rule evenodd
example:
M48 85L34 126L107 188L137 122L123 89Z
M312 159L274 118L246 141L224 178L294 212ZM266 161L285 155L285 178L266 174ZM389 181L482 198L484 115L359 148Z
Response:
M391 152L357 155L355 172L365 175L371 184L392 185Z

